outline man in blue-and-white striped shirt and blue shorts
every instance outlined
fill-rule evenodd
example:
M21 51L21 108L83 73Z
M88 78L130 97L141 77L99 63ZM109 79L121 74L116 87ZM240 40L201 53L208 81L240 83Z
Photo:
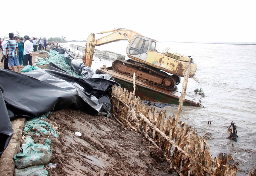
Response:
M10 40L6 42L6 57L8 53L9 66L11 66L12 71L15 72L14 66L17 66L18 73L21 73L19 70L19 62L18 62L18 56L19 56L18 43L16 40L14 40L13 37L14 37L14 34L9 33Z

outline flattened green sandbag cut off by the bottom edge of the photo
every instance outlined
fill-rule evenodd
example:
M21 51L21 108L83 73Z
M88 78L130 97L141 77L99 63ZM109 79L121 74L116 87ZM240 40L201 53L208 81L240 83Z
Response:
M14 176L48 176L49 173L44 165L31 166L25 169L14 169Z

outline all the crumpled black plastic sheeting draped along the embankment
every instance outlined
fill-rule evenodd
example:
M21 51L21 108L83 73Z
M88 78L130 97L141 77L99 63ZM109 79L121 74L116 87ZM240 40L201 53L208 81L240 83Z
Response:
M63 52L61 48L58 50ZM63 108L109 116L110 89L119 84L109 74L96 74L90 67L74 60L67 51L64 58L81 78L53 63L49 64L49 70L38 69L23 74L0 68L0 154L13 134L10 120L33 118Z

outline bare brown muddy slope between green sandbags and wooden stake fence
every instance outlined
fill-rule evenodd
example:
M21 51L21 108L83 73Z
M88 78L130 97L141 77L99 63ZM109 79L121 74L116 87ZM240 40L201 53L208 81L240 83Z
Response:
M0 55L0 57L3 54ZM47 53L33 52L33 63ZM35 64L34 64L35 65ZM37 65L48 69L49 65ZM3 68L3 64L0 63ZM17 72L17 68L15 68ZM114 106L114 105L113 105ZM80 110L52 112L45 121L59 133L59 138L42 134L33 135L35 143L51 140L53 157L47 166L50 176L174 176L161 151L158 151L142 135L125 130L113 118L92 116ZM81 133L77 137L75 132ZM22 142L21 142L22 144Z

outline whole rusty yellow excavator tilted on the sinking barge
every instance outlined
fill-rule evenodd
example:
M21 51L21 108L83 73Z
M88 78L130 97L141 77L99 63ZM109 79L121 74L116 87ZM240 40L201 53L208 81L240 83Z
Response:
M132 77L135 73L136 78L139 78L140 81L165 90L172 90L180 83L180 77L183 77L183 71L187 63L191 64L189 77L195 75L197 65L193 62L191 56L186 57L168 52L169 48L160 53L156 50L156 40L125 28L102 31L97 34L110 32L111 34L99 39L95 39L94 33L89 35L83 61L86 66L91 67L92 65L95 46L128 40L126 53L131 59L114 61L112 69L115 72L128 77Z

